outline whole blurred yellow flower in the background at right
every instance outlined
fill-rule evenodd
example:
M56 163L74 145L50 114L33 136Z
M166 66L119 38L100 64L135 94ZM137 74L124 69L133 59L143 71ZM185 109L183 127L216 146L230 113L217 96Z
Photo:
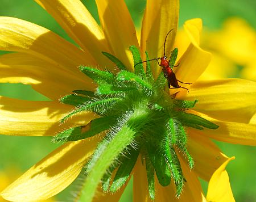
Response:
M241 73L241 78L256 81L256 32L249 23L228 18L220 30L206 31L202 38L202 46L210 50L213 60L200 79L230 78ZM220 65L224 68L218 68Z

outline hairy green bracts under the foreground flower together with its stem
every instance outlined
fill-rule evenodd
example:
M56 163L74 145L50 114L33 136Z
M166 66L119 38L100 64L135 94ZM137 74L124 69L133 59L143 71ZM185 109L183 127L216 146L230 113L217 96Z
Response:
M129 179L136 161L141 159L147 171L150 198L154 200L157 194L155 173L162 186L174 180L179 197L185 183L179 158L187 159L190 169L194 166L187 149L187 127L218 128L203 117L184 112L193 108L198 100L176 100L175 95L169 95L164 90L167 80L163 73L154 81L150 62L146 62L145 71L139 50L134 46L130 50L134 64L138 64L134 73L118 58L103 52L118 66L119 73L80 66L82 73L98 84L96 91L75 90L75 94L60 99L76 106L61 123L82 111L92 111L101 117L88 125L67 129L53 137L53 141L76 141L106 133L86 163L87 177L80 201L92 201L100 182L102 190L117 191ZM175 65L176 57L177 49L174 49L170 65Z

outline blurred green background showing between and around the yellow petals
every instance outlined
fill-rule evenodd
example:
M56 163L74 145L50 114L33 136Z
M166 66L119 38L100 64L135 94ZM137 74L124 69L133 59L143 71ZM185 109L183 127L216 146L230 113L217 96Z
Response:
M82 2L97 22L99 22L94 1L84 0ZM1 0L0 3L1 16L13 16L28 20L72 41L56 21L34 1ZM126 3L134 19L135 26L140 27L146 1L126 0ZM201 18L203 19L204 28L208 32L214 32L222 29L222 25L226 19L231 16L238 16L244 19L248 23L248 26L255 30L255 9L256 1L254 0L181 0L179 25L181 27L187 19ZM237 27L237 30L240 30L240 27ZM4 54L6 52L2 51L0 53ZM230 60L230 58L227 58L227 60ZM236 64L236 62L233 63L237 66L236 77L241 77L240 70L244 67L241 64ZM32 90L30 86L21 84L0 84L0 95L18 99L47 100L46 97ZM0 176L1 173L5 173L8 176L6 178L9 178L10 182L14 180L16 176L22 174L22 172L26 171L58 146L52 144L50 140L50 137L0 136ZM256 201L255 147L222 144L221 142L217 142L217 144L229 157L236 156L236 159L230 162L227 168L235 199L237 201ZM202 181L202 184L204 191L206 191L207 183ZM121 201L132 201L131 185L130 183L127 187ZM69 196L70 188L61 192L55 199L69 201Z

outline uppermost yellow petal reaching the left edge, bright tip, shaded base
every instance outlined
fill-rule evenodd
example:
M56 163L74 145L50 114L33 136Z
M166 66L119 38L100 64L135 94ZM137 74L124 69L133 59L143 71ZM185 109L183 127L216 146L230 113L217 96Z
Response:
M0 17L0 48L42 58L80 76L77 66L96 62L75 45L36 24L17 18ZM88 78L88 77L81 77Z

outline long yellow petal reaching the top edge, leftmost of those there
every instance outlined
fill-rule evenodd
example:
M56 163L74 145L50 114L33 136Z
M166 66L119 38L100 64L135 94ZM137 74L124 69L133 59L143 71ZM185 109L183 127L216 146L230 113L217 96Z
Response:
M35 0L56 19L86 54L91 54L102 67L110 61L101 54L109 52L101 28L80 0Z

